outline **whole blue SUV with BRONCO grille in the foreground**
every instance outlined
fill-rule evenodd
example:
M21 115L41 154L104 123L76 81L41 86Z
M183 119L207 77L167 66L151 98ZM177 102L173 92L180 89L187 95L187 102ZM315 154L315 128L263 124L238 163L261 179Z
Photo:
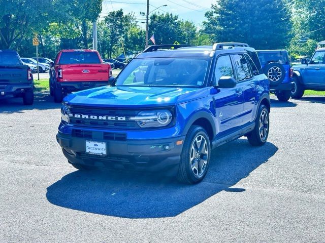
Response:
M211 149L267 141L269 79L247 44L151 46L110 84L63 100L56 139L77 169L160 171L193 184Z

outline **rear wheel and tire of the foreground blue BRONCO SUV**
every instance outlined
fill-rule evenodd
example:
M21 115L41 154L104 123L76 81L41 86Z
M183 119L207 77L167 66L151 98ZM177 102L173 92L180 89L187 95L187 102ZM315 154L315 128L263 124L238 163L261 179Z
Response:
M263 128L262 131L260 131ZM269 111L265 105L258 108L258 113L255 119L255 128L247 135L248 142L252 146L261 146L266 143L270 130Z

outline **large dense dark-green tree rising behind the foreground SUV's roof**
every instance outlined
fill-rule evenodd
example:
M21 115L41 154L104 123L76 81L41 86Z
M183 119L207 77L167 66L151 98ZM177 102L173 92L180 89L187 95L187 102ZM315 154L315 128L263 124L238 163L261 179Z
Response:
M256 49L288 44L291 22L285 0L218 0L211 8L204 30L217 42L244 42Z

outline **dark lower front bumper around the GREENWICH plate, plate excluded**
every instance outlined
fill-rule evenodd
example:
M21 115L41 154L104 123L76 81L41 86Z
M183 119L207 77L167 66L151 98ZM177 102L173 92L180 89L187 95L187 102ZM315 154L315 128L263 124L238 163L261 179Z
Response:
M105 140L97 132L91 139L73 137L58 132L56 140L70 163L109 169L164 172L174 176L178 171L183 145L176 141L185 136L167 139ZM86 140L106 142L107 155L85 153Z

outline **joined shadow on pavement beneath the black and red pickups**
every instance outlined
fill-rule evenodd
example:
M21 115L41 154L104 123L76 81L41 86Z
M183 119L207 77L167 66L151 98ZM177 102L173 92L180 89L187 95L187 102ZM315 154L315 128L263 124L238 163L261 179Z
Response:
M23 113L23 110L48 110L58 109L61 104L54 103L53 97L49 92L38 92L34 94L34 104L24 105L22 98L9 98L0 100L0 114L1 113Z

